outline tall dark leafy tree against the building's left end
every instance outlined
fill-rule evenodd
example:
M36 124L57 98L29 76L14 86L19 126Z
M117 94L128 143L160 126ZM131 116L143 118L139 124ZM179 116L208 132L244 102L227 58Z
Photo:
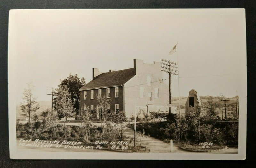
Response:
M60 80L60 85L58 87L66 86L68 88L68 93L71 95L71 101L73 103L73 107L75 108L75 117L77 119L77 115L79 114L79 106L80 106L80 93L79 89L85 85L85 78L82 77L81 79L78 75L71 75L66 79Z

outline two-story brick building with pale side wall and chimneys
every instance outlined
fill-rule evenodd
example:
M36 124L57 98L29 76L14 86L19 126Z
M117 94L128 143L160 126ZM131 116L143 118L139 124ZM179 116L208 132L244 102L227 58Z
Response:
M109 111L124 111L127 117L135 115L135 106L145 114L158 109L168 111L169 88L163 81L161 63L146 64L135 59L133 63L133 68L106 73L93 68L92 81L79 89L83 109L89 108L99 118L97 97L106 96L112 98Z

